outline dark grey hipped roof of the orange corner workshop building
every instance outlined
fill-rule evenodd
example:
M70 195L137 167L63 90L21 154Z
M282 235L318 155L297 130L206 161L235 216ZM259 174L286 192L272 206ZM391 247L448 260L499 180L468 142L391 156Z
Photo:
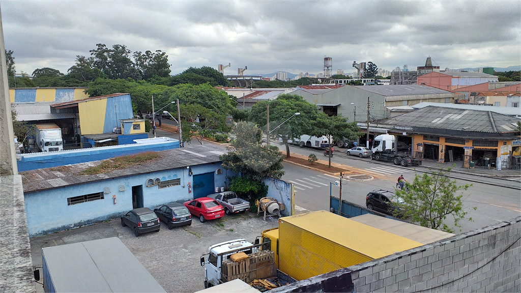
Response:
M383 124L475 131L487 133L514 132L520 119L490 111L428 106L382 121Z

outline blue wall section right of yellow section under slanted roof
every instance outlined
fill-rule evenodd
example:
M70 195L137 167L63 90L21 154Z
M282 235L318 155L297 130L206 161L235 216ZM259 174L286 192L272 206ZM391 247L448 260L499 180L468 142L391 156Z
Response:
M103 133L112 132L114 127L121 127L119 122L120 119L130 118L134 118L134 113L132 112L132 102L130 101L130 94L107 98Z

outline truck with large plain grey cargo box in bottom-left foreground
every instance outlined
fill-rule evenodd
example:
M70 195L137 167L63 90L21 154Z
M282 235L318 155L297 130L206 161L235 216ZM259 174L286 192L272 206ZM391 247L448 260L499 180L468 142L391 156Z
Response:
M117 237L45 247L42 261L45 292L166 292Z

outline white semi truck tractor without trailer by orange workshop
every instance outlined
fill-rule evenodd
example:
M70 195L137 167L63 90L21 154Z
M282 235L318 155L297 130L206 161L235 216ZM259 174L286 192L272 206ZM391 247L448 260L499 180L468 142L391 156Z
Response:
M421 165L420 158L398 153L396 137L393 135L379 135L375 137L371 151L373 151L371 160L393 162L394 165L402 165L403 167Z

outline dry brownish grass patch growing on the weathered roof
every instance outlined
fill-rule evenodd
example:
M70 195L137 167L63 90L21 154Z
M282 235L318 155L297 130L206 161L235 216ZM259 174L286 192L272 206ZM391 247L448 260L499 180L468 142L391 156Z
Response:
M129 156L120 156L115 158L110 158L108 160L103 161L100 165L89 167L79 174L81 175L94 175L94 174L102 174L110 172L111 170L116 169L125 169L128 167L132 167L135 165L141 165L145 162L154 160L155 158L160 157L158 153L155 152L144 152L141 154L129 155Z

